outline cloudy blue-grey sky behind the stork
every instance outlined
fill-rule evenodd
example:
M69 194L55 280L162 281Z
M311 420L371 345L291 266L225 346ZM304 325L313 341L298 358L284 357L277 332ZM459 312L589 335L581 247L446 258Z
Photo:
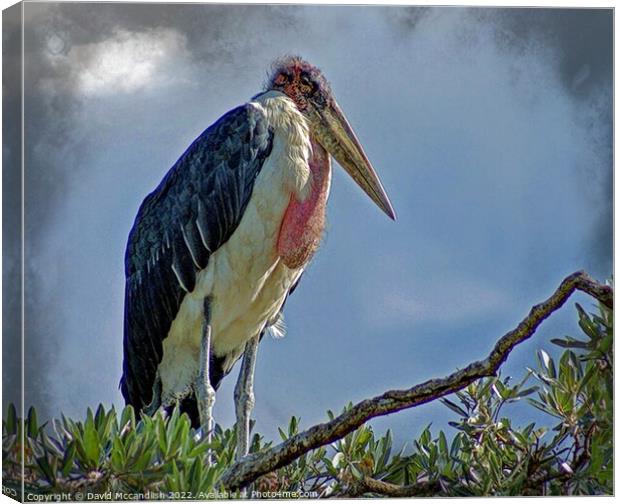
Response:
M611 10L27 3L25 385L41 418L122 407L123 257L137 209L284 54L330 80L398 219L334 167L325 238L287 302L287 336L259 349L258 431L276 438L291 415L310 426L446 375L484 357L569 273L611 275ZM6 282L17 259L4 257ZM575 296L504 375L578 335L573 301L593 306ZM5 296L5 313L15 303ZM5 339L19 333L7 320ZM218 391L225 426L235 380ZM373 425L407 440L451 415L428 404Z

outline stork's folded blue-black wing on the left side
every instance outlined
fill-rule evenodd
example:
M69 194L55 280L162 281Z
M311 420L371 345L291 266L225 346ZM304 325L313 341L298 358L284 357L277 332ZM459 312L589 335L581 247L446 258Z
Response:
M162 341L185 292L237 228L273 133L260 110L236 108L206 129L138 211L125 253L121 391L137 409L152 399Z

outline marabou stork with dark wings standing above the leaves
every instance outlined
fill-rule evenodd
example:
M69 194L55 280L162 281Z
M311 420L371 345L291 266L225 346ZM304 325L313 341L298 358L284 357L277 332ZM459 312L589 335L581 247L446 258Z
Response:
M260 338L316 251L330 155L392 219L392 205L330 86L299 57L222 116L143 201L125 256L128 404L179 404L209 435L215 390L244 355L235 388L237 456L247 453Z

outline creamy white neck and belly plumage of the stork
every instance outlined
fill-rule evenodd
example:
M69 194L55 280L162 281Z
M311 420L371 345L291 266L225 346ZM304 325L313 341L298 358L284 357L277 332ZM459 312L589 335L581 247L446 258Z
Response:
M185 295L168 336L158 368L162 404L190 391L199 372L204 300L209 298L211 351L226 356L229 369L245 343L278 314L303 267L290 269L278 257L276 244L291 193L309 190L311 146L304 118L279 93L255 99L274 130L272 153L265 161L239 226L198 273L194 290Z

